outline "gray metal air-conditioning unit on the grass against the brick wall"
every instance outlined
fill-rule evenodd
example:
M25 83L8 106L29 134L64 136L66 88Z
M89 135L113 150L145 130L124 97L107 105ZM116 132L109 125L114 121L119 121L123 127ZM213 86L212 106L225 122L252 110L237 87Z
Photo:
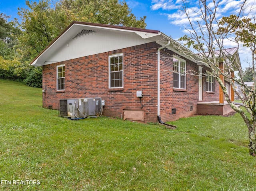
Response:
M101 98L60 99L60 116L70 119L98 116L101 104Z

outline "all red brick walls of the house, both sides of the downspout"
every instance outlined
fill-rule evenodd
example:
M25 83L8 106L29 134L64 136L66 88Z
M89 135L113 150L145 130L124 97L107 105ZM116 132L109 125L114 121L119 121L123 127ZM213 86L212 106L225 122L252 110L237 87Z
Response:
M145 122L157 122L158 47L156 43L147 43L43 66L43 106L58 109L58 99L101 97L105 100L105 116L120 117L126 109L144 110ZM108 56L116 53L124 53L124 88L112 90L108 89ZM174 91L171 55L172 51L161 51L160 116L164 122L197 113L198 76L187 75L186 91ZM58 93L56 66L61 64L65 64L65 91ZM186 70L198 72L198 66L186 60ZM214 94L206 93L206 77L203 82L203 100L218 100L217 82ZM136 97L138 90L143 93L143 108ZM172 114L173 108L176 114Z

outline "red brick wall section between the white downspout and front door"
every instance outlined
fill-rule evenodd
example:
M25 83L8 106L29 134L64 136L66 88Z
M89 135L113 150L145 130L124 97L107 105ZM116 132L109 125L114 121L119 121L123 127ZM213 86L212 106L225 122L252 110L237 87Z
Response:
M186 60L186 90L178 91L173 89L173 73L172 59L164 59L163 57L172 57L171 51L163 51L161 55L161 120L172 121L182 117L192 116L197 112L198 102L198 76L190 75L192 71L198 72L198 66L192 61ZM192 71L191 71L192 70ZM194 73L194 72L193 72ZM192 110L190 107L192 106ZM172 114L172 109L176 109L176 113Z

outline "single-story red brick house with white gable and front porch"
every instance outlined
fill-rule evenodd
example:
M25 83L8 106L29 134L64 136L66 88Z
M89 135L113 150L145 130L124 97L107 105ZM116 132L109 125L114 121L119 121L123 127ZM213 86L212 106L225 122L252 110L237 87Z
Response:
M210 69L179 56L168 41L174 42L157 30L72 22L31 62L43 67L43 106L59 109L60 99L102 98L103 115L144 122L232 111L213 77L186 73ZM228 51L232 56L237 49Z

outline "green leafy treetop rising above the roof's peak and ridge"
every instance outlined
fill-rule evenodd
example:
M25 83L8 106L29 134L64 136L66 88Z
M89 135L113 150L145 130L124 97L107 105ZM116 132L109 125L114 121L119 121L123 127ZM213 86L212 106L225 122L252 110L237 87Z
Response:
M146 16L137 20L125 1L118 0L60 0L68 24L73 20L100 24L145 28Z

